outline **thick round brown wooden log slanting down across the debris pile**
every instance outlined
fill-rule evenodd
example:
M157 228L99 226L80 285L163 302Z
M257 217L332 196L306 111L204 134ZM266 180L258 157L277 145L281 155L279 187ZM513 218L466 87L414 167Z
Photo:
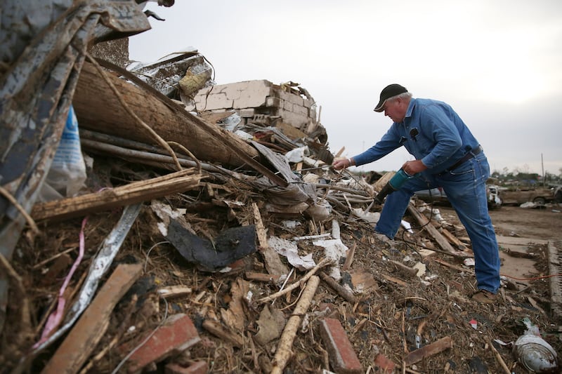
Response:
M139 118L164 140L178 142L189 149L197 159L241 166L245 161L240 154L254 159L258 157L256 149L236 135L218 126L213 129L214 132L221 131L224 136L230 138L237 149L225 147L221 139L209 135L209 132L201 128L201 119L190 114L179 116L162 100L143 89L117 78L115 74L110 74L109 78ZM90 63L86 62L82 67L72 105L81 128L155 144L152 136L127 114L115 93Z

